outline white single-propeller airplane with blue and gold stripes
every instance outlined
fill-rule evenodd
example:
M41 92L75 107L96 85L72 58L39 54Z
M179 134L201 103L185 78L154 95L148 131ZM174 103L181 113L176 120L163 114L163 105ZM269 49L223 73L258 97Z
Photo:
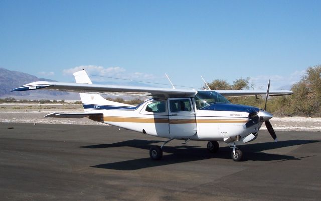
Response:
M152 87L133 87L92 84L82 70L73 74L76 83L38 81L26 84L12 91L61 90L80 92L83 113L51 113L45 117L83 118L103 122L148 135L168 138L162 146L151 146L151 159L161 159L162 148L173 139L208 141L207 149L217 152L219 143L224 141L233 151L234 161L242 159L236 145L250 142L258 136L263 122L277 141L269 122L273 116L266 111L268 95L290 95L292 91L254 90L189 90ZM144 93L151 97L133 106L108 101L99 93ZM225 97L266 95L264 109L231 104Z

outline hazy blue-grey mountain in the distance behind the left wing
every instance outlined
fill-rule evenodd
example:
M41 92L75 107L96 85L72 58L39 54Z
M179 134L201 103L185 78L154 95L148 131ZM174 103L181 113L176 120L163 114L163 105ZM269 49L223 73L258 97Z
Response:
M5 68L0 68L0 98L14 97L16 99L29 99L29 100L80 100L78 93L69 93L61 91L49 91L49 90L35 90L35 91L22 91L11 92L12 89L21 87L24 84L36 81L51 81L54 80L38 78L34 75L19 71L10 71Z

